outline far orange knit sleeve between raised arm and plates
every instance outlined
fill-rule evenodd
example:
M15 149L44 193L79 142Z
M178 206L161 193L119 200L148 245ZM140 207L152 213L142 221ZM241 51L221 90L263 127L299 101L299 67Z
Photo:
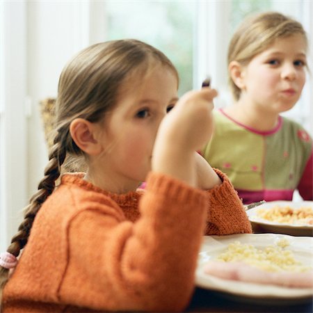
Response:
M209 193L207 204L206 235L251 233L252 227L243 204L230 179L220 170L214 169L223 183Z

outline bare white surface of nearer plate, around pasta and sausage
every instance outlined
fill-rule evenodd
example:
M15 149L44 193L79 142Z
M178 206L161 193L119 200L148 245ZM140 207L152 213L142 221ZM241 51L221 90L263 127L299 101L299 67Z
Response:
M250 282L239 282L234 280L223 280L204 273L203 266L211 259L216 259L229 243L240 241L249 243L256 248L265 248L275 244L278 240L286 238L290 245L288 250L294 252L298 261L303 265L313 266L313 238L288 236L284 234L234 234L227 236L204 236L204 241L198 259L198 268L195 273L195 284L198 287L222 291L228 296L238 298L254 298L255 300L288 300L301 302L312 300L313 289L287 288L271 284L256 284Z

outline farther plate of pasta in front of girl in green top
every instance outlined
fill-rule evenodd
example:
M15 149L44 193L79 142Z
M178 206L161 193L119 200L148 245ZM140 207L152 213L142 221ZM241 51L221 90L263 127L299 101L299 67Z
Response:
M272 201L247 211L254 232L313 236L313 201Z

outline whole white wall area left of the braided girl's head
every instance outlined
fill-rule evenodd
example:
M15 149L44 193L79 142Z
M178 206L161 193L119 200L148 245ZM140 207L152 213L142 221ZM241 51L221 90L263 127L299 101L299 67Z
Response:
M56 97L61 70L74 54L104 40L104 5L104 1L0 2L5 57L0 83L1 250L17 232L22 209L47 165L40 100Z

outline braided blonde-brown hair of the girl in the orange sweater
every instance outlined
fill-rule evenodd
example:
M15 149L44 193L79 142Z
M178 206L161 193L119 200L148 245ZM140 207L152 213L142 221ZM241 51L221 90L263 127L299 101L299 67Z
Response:
M155 65L168 67L178 74L170 60L158 49L138 40L114 40L90 46L67 63L58 83L56 98L56 135L49 151L45 177L25 208L24 220L7 251L17 257L29 238L33 220L42 203L51 195L67 155L83 156L70 136L75 118L99 122L117 102L120 86L132 82L134 75L147 74ZM140 77L142 78L142 77ZM0 298L8 269L0 266Z

